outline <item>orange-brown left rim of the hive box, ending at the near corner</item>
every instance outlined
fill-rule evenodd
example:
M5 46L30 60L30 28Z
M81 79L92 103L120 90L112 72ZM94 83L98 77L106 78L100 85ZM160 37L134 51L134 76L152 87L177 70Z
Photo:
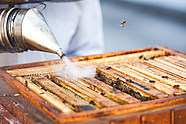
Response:
M16 80L14 77L10 76L3 70L0 70L0 78L9 84L13 89L22 94L40 110L48 114L48 116L56 119L56 121L61 122L61 118L64 117L64 113L56 109L50 103L46 102L43 98L35 94L33 91L25 87L21 82Z

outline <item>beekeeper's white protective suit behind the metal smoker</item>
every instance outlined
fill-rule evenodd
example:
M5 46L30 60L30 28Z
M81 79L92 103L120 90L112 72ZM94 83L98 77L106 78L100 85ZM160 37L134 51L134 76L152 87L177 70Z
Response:
M50 29L68 56L103 52L102 15L99 0L45 2L42 11ZM36 4L23 4L31 8ZM29 51L0 53L0 66L59 59L56 54Z

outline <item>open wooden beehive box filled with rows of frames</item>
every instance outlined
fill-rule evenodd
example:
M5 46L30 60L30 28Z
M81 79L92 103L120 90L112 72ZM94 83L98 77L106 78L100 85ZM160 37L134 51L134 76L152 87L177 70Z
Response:
M159 46L70 59L96 76L64 76L62 60L1 67L1 123L186 121L185 54Z

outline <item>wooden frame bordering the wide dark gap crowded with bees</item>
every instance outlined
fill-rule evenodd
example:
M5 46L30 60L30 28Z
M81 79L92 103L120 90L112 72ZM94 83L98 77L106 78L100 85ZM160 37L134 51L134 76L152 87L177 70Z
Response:
M124 90L125 92L133 95L136 98L139 98L140 100L148 100L149 98L151 99L156 99L156 98L163 98L162 93L158 90L155 90L154 88L150 87L147 84L141 83L139 81L130 79L130 77L123 75L122 73L114 70L114 69L109 69L107 70L107 67L98 67L97 68L98 75L101 74L102 76L107 76L106 78L108 81L110 80L110 85L113 85L112 82L115 81L117 84L120 82L121 85L118 86L120 90ZM130 80L129 80L130 79ZM103 79L105 80L105 79ZM107 81L104 81L107 82ZM109 82L107 82L109 83ZM130 89L126 89L123 87L123 85L127 85ZM121 87L121 88L120 88ZM124 88L124 89L122 89ZM132 91L131 91L132 90ZM139 95L140 93L140 95ZM147 98L146 98L147 97Z

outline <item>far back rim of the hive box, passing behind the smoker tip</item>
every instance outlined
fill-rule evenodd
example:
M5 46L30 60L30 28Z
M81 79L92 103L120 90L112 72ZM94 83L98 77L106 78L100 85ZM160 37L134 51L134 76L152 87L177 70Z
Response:
M77 62L77 61L90 60L90 59L88 59L88 57L97 59L96 56L112 57L112 56L125 55L125 54L138 53L138 52L151 51L151 50L164 50L168 54L181 55L181 56L185 56L184 58L186 58L185 54L179 53L177 51L171 50L171 49L166 48L166 47L155 46L155 47L138 48L138 49L133 49L133 50L123 50L123 51L103 53L103 54L90 55L90 56L70 57L69 59L71 59L72 61ZM83 60L82 60L82 58L83 58ZM22 68L48 66L48 65L52 65L52 64L61 64L61 63L63 63L63 61L61 59L57 59L57 60L51 60L51 61L43 61L43 62L35 62L35 63L28 63L28 64L4 66L4 67L0 67L0 70L15 70L15 69L22 69Z

